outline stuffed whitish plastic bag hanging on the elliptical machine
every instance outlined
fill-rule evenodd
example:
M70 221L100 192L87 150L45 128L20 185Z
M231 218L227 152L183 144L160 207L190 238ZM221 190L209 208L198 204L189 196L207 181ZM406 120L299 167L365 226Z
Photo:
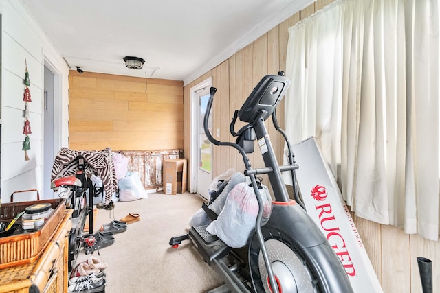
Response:
M264 224L270 216L272 198L267 187L262 187L259 191L263 199ZM232 248L243 247L248 244L255 230L258 211L259 204L253 187L247 182L239 183L229 192L219 217L206 227L206 231L217 235Z

